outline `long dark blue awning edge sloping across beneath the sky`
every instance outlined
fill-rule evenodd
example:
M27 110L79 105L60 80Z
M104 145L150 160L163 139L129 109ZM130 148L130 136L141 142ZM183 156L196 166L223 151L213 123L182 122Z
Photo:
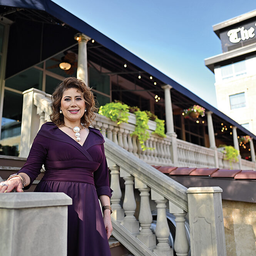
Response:
M249 136L256 139L256 136L254 134L246 130L244 127L239 125L233 119L231 119L230 117L228 117L227 115L225 115L224 113L222 113L221 111L219 111L218 109L210 105L209 103L205 102L200 97L193 94L190 90L186 89L182 85L178 84L176 81L172 80L167 75L163 74L156 68L152 67L144 60L132 54L127 49L117 44L115 41L113 41L109 37L100 33L98 30L96 30L95 28L93 28L92 26L90 26L80 18L76 17L72 13L60 7L56 3L50 0L0 0L0 5L17 7L17 8L30 8L30 9L42 10L49 13L50 15L54 16L55 18L58 18L59 20L66 23L70 27L73 27L76 30L80 31L81 33L84 33L85 35L88 35L89 37L93 38L94 40L96 40L97 42L99 42L100 44L102 44L104 47L111 50L115 54L118 54L119 56L123 57L124 59L131 62L132 64L136 65L140 69L151 74L153 77L156 77L157 79L161 80L164 84L171 85L175 90L177 90L181 94L186 95L190 99L197 102L197 104L201 105L207 110L212 111L218 117L226 120L231 125L238 127L239 130L241 130L245 134L248 134Z

